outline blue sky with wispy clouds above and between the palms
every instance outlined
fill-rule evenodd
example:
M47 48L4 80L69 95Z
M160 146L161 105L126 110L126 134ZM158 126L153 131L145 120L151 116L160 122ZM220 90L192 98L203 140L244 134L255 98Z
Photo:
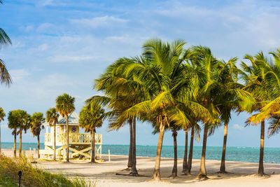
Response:
M0 104L8 113L25 109L45 113L55 98L66 92L76 97L79 112L92 90L94 78L118 57L141 53L146 39L184 39L186 47L209 46L214 55L228 60L265 53L280 47L279 1L71 1L13 0L0 6L0 27L13 46L0 50L13 77L13 85L0 86ZM260 127L244 127L248 114L232 114L228 146L259 146ZM129 129L97 130L104 144L128 144ZM2 141L13 141L7 119L1 123ZM156 145L151 125L137 123L137 144ZM266 137L267 138L267 137ZM36 142L31 135L23 141ZM43 136L41 136L43 142ZM178 144L184 144L179 132ZM208 146L221 146L223 129L209 137ZM280 134L265 139L279 147ZM196 145L201 145L195 143ZM165 145L172 145L170 132Z

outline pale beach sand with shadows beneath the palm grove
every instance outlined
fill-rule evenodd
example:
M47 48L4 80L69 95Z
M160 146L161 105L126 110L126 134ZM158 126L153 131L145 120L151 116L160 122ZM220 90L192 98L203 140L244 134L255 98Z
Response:
M12 155L10 150L3 151L6 155ZM28 151L27 151L28 153ZM226 162L226 169L230 174L217 174L220 161L207 160L207 174L209 179L198 181L196 178L200 169L200 160L193 160L192 175L183 176L182 159L178 160L178 175L175 179L169 178L172 167L172 158L162 158L160 173L162 182L149 181L153 174L155 158L137 157L137 169L143 176L116 175L128 174L122 171L127 166L127 156L111 155L111 162L108 155L102 155L104 162L89 164L88 160L71 160L70 163L38 161L34 166L50 172L61 172L69 176L84 176L87 179L96 180L99 187L165 187L165 186L280 186L280 165L265 164L265 173L268 176L256 176L258 172L257 163L248 162Z

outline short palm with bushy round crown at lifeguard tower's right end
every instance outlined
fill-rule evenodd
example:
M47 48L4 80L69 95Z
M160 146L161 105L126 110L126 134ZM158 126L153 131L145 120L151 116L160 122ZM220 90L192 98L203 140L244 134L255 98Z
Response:
M101 105L94 102L83 106L83 109L80 111L80 127L84 127L85 132L90 132L92 136L92 163L95 162L95 131L97 127L102 126L104 117L104 109L102 109Z

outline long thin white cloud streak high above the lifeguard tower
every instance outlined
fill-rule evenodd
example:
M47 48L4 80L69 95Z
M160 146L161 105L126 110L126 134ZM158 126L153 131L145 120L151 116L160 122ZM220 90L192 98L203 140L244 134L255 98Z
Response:
M113 16L103 16L103 17L95 17L92 19L73 19L70 22L74 25L80 25L83 27L91 27L91 28L99 28L99 27L113 27L118 25L124 25L128 20L124 20L121 18L116 18Z

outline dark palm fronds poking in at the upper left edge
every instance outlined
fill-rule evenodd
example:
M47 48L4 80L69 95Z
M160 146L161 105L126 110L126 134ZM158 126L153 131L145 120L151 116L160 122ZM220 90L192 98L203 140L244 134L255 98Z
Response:
M0 1L0 4L3 4L2 1ZM6 46L8 44L12 44L10 41L10 38L4 32L3 29L0 28L0 48L2 46ZM10 74L8 73L8 69L6 68L5 62L0 59L0 82L6 83L6 85L10 85L12 83L12 78L10 78Z

